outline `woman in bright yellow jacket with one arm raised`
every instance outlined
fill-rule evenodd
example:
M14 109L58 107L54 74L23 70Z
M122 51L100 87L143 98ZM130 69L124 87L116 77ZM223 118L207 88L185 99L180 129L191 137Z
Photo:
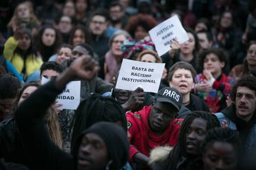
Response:
M33 49L32 34L29 30L17 29L4 44L4 57L27 83L38 81L39 68L43 63L40 56Z

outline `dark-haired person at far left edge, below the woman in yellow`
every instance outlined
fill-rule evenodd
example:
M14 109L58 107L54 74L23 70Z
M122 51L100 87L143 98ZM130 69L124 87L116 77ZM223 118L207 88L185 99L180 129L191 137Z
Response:
M0 76L0 121L13 116L12 109L19 89L20 81L17 77L9 74Z

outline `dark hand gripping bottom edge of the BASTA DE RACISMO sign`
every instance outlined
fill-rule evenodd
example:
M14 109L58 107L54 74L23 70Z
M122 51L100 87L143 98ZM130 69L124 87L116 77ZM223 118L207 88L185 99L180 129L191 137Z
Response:
M130 95L128 101L122 105L124 110L134 110L139 107L144 102L144 91L142 88L138 87Z

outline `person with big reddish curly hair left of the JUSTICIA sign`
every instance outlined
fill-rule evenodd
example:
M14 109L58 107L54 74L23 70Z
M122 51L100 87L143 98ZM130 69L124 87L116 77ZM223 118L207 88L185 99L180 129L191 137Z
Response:
M148 36L148 31L157 24L155 18L150 15L138 14L129 18L126 31L130 33L135 41L139 41Z

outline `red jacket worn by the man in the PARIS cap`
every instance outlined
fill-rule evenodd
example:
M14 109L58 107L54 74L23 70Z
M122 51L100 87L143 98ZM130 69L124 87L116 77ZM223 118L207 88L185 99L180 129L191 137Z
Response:
M166 144L173 147L177 143L183 119L174 119L163 134L155 134L151 131L148 124L150 110L151 106L145 106L140 111L129 112L126 115L128 138L130 141L130 162L133 161L132 158L137 152L149 156L152 148Z

